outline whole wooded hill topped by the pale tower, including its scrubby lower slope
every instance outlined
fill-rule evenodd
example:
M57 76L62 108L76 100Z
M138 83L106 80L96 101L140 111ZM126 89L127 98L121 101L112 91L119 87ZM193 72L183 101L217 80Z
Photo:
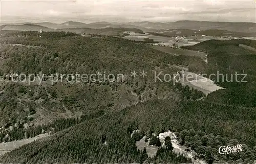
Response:
M174 85L154 82L154 72L174 74L178 70L168 64L189 65L200 62L200 58L170 56L141 42L106 36L79 36L65 32L42 33L15 32L3 34L1 38L1 126L5 129L23 129L52 122L59 118L76 118L94 110L119 110L127 106L154 98L177 97L183 99ZM203 63L203 61L201 61ZM148 72L145 78L132 78L131 72ZM96 74L96 72L123 74L123 81L82 82L77 81L51 83L52 74ZM13 82L10 74L33 74L34 83ZM43 78L44 76L44 78ZM33 79L35 78L35 79ZM40 82L40 78L41 81ZM163 75L161 76L163 79ZM30 80L31 80L30 79ZM77 79L76 79L77 80ZM99 79L98 79L99 80ZM197 90L197 99L201 93ZM200 93L197 96L197 92ZM181 98L178 96L181 95ZM13 140L18 137L1 139Z

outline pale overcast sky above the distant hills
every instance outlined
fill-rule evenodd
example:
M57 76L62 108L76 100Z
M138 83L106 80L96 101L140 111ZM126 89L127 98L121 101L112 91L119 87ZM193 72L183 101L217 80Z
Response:
M246 21L255 0L0 0L2 22Z

